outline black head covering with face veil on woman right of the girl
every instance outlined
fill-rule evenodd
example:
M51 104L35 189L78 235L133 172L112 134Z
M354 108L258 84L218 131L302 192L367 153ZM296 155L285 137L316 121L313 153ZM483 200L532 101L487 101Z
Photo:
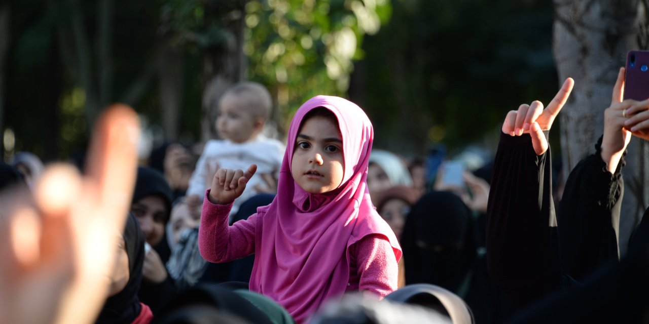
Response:
M406 218L401 244L406 284L435 284L465 294L476 247L471 213L456 194L422 196Z

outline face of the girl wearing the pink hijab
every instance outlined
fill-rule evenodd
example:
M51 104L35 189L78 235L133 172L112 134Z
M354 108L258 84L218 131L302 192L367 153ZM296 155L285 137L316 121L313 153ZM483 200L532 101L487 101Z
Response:
M343 182L345 157L338 125L314 116L302 122L295 138L291 174L306 192L329 192Z

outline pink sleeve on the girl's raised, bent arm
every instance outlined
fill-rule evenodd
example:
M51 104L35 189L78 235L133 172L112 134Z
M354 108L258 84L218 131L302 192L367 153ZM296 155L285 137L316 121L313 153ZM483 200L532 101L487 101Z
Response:
M241 259L254 253L254 226L257 214L247 220L228 226L228 214L232 203L221 205L203 198L201 226L199 226L199 252L203 259L220 263Z

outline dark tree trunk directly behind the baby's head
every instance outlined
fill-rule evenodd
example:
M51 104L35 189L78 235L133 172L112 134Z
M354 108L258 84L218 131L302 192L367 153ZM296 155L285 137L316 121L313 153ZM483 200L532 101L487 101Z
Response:
M243 54L243 31L245 10L243 3L239 8L231 10L223 18L223 31L227 41L223 44L206 49L203 54L203 94L201 141L207 141L216 135L214 129L215 110L219 98L232 84L245 78L246 63ZM218 8L212 8L218 10ZM213 12L219 15L218 11ZM207 17L206 12L206 17Z

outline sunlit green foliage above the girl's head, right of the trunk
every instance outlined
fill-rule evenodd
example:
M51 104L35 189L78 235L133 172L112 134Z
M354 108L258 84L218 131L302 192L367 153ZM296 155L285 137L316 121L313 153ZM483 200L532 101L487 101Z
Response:
M245 9L249 78L275 93L284 122L314 95L346 97L363 36L391 15L387 0L252 0Z

